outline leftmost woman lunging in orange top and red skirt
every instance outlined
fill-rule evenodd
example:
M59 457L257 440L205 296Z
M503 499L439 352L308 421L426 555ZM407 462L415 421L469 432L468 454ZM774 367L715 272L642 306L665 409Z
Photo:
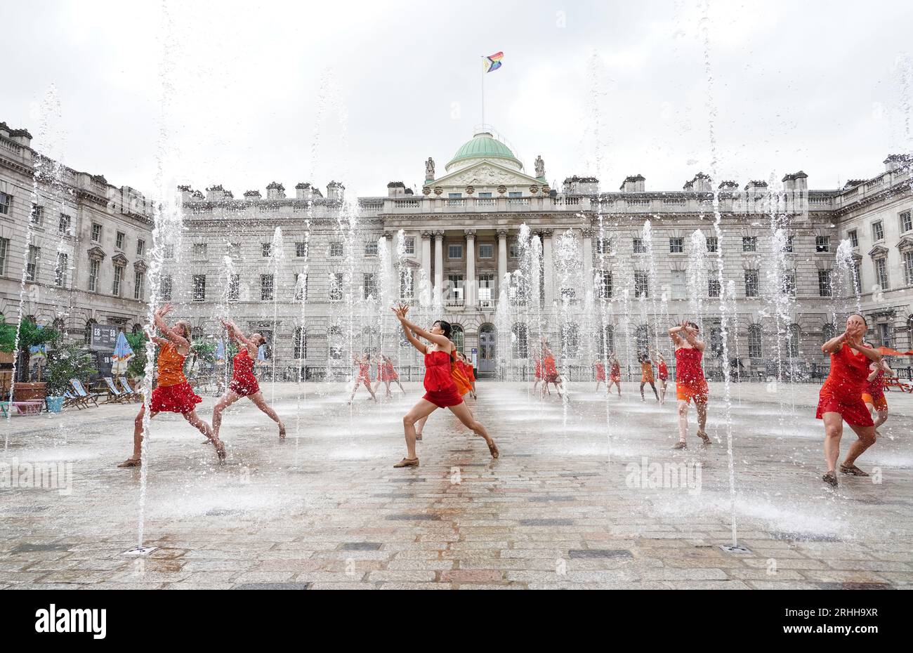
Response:
M184 377L184 359L190 353L190 325L185 321L174 323L169 327L164 317L172 311L172 305L166 303L152 314L155 328L162 332L164 338L152 335L152 342L161 347L158 361L158 383L152 390L152 401L149 405L149 418L159 413L180 413L194 428L198 429L215 445L215 452L220 460L225 459L226 450L218 437L214 437L212 428L196 415L196 405L203 399L194 393L194 388ZM133 420L133 456L124 460L118 467L140 467L142 465L142 416L146 405L143 403L139 415Z

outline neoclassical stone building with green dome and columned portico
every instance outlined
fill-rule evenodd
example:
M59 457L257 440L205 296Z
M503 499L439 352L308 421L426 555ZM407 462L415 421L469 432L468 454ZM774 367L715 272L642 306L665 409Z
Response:
M0 188L0 200L13 195L8 212L0 202L7 315L30 251L26 198L38 158L21 131L0 132L0 183L13 189ZM383 350L417 370L389 313L395 300L411 302L420 321L454 323L456 341L475 354L482 374L526 374L542 336L572 376L588 377L603 348L635 363L645 346L666 346L671 321L697 313L711 343L708 368L719 373L720 303L729 315L729 358L739 358L741 374L763 374L780 359L808 374L826 363L820 342L856 301L873 340L913 347L913 167L898 155L884 163L883 173L836 190L809 190L803 172L775 188L716 183L706 174L680 191L647 190L640 174L617 192L586 176L550 188L541 157L528 172L494 132L480 129L443 170L429 158L417 192L392 182L386 196L346 198L344 186L331 182L325 193L300 183L287 194L273 182L265 196L247 190L236 198L218 184L205 194L182 187L184 228L163 238L157 294L178 305L198 336L215 336L220 316L264 332L268 358L289 377L298 369L309 378L343 376L350 353L362 350ZM42 303L39 294L26 312L63 319L74 337L90 319L131 328L149 292L141 275L151 223L142 195L73 171L47 185L39 172L45 204L65 196L73 236L47 233L47 219L65 211L55 204L48 218L46 208L45 231L32 235L45 262L29 288L59 299ZM858 299L837 282L843 239ZM45 254L60 243L72 252L63 288Z

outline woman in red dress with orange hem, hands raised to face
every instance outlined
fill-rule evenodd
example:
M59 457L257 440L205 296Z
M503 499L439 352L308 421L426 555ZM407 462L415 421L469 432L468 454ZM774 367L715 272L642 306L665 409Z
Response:
M698 437L705 445L712 444L707 435L707 402L710 391L701 359L704 357L704 342L698 340L698 325L683 321L669 329L669 338L676 351L676 396L678 399L678 442L673 448L687 448L688 406L694 401L698 412Z

